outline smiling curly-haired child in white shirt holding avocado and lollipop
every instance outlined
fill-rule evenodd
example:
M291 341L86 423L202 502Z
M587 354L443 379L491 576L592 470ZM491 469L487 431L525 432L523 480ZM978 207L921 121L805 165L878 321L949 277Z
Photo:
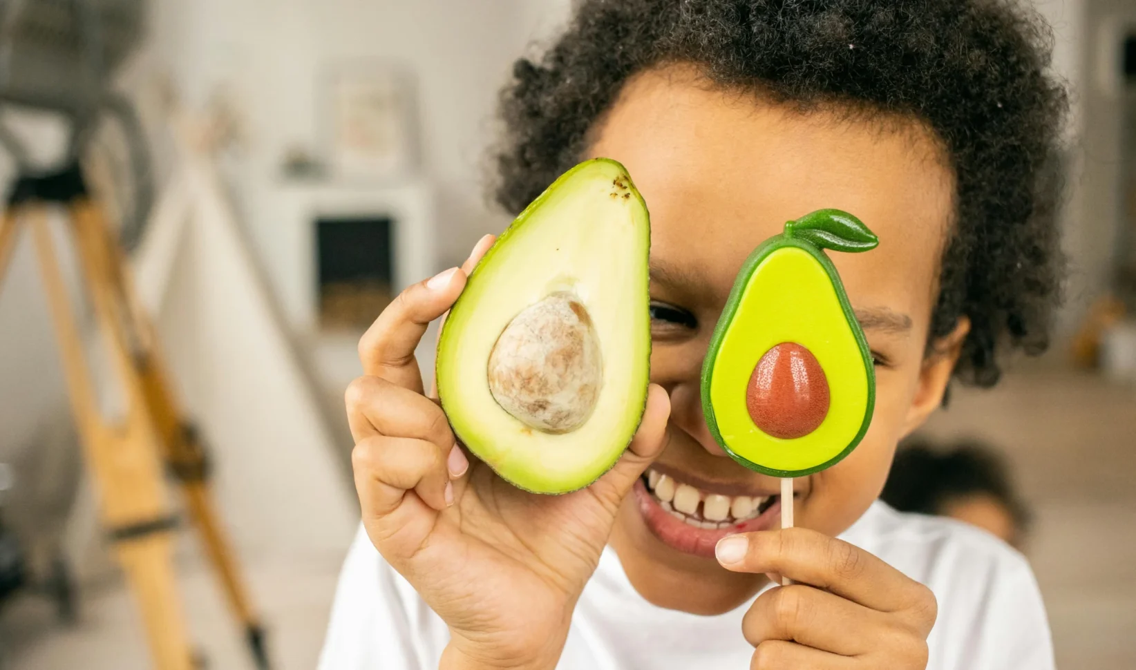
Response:
M875 502L952 374L991 385L1004 349L1044 347L1064 97L1039 19L994 0L575 7L513 68L498 198L516 212L579 160L627 167L652 223L643 421L583 491L509 486L456 444L412 353L492 237L408 288L346 393L362 530L320 667L1052 668L1018 553ZM800 528L782 531L777 479L709 434L700 368L746 254L828 207L880 238L832 254L874 352L875 418L849 458L796 480ZM683 487L729 496L746 531L660 513Z

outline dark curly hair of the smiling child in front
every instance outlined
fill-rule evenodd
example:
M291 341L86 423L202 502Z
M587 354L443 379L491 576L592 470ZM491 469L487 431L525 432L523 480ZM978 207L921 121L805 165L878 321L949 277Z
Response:
M496 200L518 213L578 162L627 78L665 62L802 110L918 118L957 181L930 337L969 317L955 374L993 385L999 349L1046 349L1059 302L1067 98L1051 47L1031 9L999 0L583 0L501 94Z

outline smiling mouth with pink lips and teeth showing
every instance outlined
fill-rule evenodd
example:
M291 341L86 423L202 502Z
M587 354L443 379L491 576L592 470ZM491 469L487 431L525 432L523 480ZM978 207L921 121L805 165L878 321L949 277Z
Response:
M715 546L727 535L768 530L777 522L778 495L735 492L699 488L653 468L635 484L640 513L651 533L675 550L704 558L713 558Z

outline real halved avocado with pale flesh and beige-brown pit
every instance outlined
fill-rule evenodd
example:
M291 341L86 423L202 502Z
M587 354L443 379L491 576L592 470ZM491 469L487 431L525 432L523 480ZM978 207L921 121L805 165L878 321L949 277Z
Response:
M649 384L650 246L627 170L598 158L477 263L442 328L437 390L454 434L503 479L567 493L627 447Z

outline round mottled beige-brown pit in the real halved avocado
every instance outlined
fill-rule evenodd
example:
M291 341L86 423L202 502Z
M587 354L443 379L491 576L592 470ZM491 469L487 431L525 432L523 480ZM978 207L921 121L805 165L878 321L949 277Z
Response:
M490 353L493 400L544 433L570 433L595 408L603 383L600 340L579 298L558 291L521 310Z

